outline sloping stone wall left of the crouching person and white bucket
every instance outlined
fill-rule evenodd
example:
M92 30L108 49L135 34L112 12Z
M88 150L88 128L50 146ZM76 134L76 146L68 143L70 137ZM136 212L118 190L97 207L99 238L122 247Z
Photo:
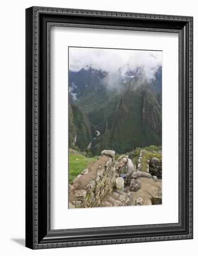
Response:
M115 151L103 150L101 156L83 170L69 185L69 208L99 207L115 185Z

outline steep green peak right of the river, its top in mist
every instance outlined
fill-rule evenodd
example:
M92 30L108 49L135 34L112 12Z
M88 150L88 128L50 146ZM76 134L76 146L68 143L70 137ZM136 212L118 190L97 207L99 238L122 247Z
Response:
M149 84L136 77L126 84L111 129L92 150L111 147L121 153L151 144L161 145L161 107Z

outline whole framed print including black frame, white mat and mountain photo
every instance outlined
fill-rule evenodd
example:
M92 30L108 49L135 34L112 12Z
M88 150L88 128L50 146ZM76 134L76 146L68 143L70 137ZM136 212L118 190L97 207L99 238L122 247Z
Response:
M26 9L26 247L192 239L192 23Z

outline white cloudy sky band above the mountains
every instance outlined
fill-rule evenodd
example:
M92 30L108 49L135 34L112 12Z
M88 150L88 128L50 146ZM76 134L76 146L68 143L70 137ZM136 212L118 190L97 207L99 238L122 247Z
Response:
M127 71L141 67L150 80L159 66L162 66L161 51L69 47L69 69L74 72L92 67L125 76Z

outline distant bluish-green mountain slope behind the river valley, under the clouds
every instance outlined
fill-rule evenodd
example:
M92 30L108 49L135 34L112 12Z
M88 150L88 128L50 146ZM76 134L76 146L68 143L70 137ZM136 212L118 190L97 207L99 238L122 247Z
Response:
M72 94L76 94L77 97L73 102L87 115L101 134L109 124L111 125L112 113L119 105L123 89L122 86L119 90L107 88L105 76L105 72L92 68L69 72L70 88ZM69 98L72 99L73 96L70 95Z

